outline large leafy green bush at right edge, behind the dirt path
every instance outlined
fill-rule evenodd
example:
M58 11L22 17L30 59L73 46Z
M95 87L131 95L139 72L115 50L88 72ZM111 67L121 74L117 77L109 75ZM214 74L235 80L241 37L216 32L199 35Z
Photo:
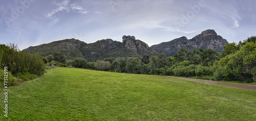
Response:
M215 65L215 80L251 82L256 77L256 44L247 42L239 51L220 59Z

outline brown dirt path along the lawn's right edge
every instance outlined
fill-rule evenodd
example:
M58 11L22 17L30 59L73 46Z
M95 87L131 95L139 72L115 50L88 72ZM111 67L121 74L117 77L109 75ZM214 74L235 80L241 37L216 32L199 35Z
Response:
M228 83L228 82L210 81L210 80L203 80L203 79L183 78L183 77L173 77L173 76L166 76L166 77L185 79L185 80L195 81L195 82L199 82L199 83L206 83L206 84L210 84L210 85L224 86L224 87L237 88L237 89L242 89L242 90L250 90L250 91L256 92L256 85L252 85L252 84Z

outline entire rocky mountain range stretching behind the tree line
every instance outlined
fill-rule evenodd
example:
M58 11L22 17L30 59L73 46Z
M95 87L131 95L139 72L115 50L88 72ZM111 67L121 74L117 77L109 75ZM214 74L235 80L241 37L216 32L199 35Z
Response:
M201 34L189 40L186 37L181 37L151 47L141 40L136 40L134 36L123 36L122 40L122 42L118 42L113 41L112 39L102 39L95 43L87 44L76 39L65 39L48 44L30 46L26 50L28 52L39 52L42 56L47 56L54 52L62 52L68 59L82 57L87 61L96 61L97 59L107 57L151 56L153 52L165 53L167 56L173 56L181 47L189 50L211 48L221 53L223 46L228 44L227 40L218 36L212 29L203 31Z

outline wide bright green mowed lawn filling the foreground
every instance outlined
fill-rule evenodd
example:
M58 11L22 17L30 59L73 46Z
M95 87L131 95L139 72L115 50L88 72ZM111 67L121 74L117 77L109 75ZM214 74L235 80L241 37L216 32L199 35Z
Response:
M256 93L158 75L57 68L1 89L0 120L256 120Z

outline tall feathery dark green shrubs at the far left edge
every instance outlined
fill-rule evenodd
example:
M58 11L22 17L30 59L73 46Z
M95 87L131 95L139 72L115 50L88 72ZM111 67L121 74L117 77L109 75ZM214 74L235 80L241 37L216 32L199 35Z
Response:
M38 54L19 51L14 44L1 45L1 49L4 51L2 62L13 75L26 72L35 75L45 73L45 63Z

